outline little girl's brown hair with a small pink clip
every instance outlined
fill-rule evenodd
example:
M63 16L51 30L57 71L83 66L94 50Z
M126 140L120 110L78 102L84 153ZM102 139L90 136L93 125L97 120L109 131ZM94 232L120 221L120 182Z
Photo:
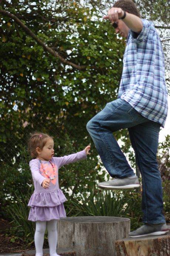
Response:
M31 134L30 139L28 141L28 150L30 151L30 155L33 158L37 157L36 148L40 148L41 150L45 146L48 139L52 139L48 134L44 134L42 132L36 132Z

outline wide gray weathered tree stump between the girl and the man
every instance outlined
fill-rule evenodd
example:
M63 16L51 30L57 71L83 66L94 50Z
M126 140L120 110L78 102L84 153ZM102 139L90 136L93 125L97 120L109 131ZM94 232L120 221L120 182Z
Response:
M58 248L76 256L116 256L115 240L128 237L130 220L121 217L71 217L58 221ZM133 255L134 256L134 255Z

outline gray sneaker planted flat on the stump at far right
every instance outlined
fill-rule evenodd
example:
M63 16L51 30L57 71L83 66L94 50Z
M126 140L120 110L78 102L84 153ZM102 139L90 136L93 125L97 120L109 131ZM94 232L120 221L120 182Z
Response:
M167 234L169 229L166 223L160 224L145 224L139 229L132 231L129 233L130 237L140 237L140 236L159 236L163 234Z

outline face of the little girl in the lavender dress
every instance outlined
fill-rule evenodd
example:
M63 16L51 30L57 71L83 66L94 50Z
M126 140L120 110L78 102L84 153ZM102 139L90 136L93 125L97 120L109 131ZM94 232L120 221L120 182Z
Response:
M54 156L54 141L49 138L44 145L43 149L36 148L38 159L48 161Z

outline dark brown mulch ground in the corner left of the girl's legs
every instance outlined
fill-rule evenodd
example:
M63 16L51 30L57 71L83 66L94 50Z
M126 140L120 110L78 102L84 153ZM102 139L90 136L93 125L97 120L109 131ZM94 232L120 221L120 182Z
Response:
M6 236L7 229L10 229L10 223L7 220L0 219L0 254L20 253L26 250L34 250L34 244L29 248L20 241L11 242L10 236Z

